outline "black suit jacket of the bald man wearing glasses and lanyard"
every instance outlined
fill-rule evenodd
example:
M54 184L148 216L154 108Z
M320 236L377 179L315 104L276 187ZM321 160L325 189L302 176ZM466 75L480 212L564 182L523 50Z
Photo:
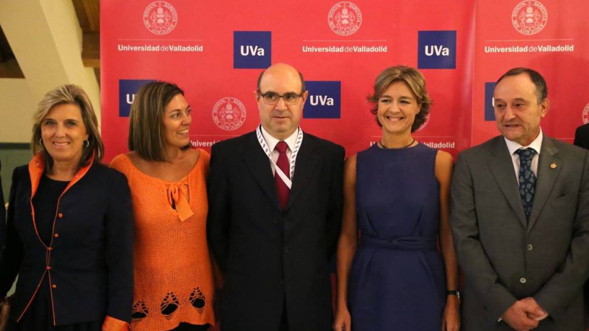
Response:
M221 329L330 330L329 261L342 217L344 150L305 134L286 210L256 134L211 150L207 233L224 272Z

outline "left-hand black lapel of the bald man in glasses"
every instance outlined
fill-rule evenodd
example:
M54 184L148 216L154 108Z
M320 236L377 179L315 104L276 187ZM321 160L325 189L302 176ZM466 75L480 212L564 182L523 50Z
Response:
M247 166L252 171L254 178L262 187L268 198L272 201L276 208L280 208L278 203L278 193L276 191L276 184L274 184L274 177L272 176L272 167L270 167L270 160L262 150L260 143L257 141L256 133L253 132L246 138L246 146L243 149L243 158ZM297 160L298 166L298 160Z

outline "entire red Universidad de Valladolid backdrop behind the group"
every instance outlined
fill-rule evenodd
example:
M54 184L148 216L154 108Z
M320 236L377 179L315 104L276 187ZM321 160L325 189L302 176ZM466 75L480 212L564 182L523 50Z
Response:
M434 105L419 141L456 155L498 134L493 82L531 67L548 82L548 135L571 141L587 121L585 0L101 1L102 135L106 160L127 151L128 111L146 81L186 92L191 140L216 141L259 124L263 68L287 62L309 88L303 130L344 145L378 140L366 97L391 65L418 68Z

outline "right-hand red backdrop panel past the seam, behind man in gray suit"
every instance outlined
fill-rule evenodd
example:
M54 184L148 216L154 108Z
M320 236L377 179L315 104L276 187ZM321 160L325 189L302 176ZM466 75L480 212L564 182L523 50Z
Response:
M575 128L587 123L589 111L584 79L589 75L589 29L584 18L588 9L585 0L477 1L473 145L497 135L495 123L489 121L492 82L513 67L530 67L544 76L551 106L542 130L572 143Z

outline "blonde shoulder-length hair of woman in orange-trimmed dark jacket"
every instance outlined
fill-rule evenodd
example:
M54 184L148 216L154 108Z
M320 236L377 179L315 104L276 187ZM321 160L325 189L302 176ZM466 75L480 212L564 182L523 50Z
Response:
M37 111L33 115L33 132L31 137L31 150L33 154L37 154L39 151L43 153L45 166L51 171L53 158L41 144L41 121L55 106L62 104L73 104L80 107L82 121L88 134L88 145L82 148L82 157L78 164L78 170L88 164L92 154L94 154L94 160L100 162L102 156L104 156L104 144L102 144L102 138L98 130L98 120L92 107L92 102L90 102L90 98L88 98L88 95L81 87L71 84L54 88L47 92L39 102Z

